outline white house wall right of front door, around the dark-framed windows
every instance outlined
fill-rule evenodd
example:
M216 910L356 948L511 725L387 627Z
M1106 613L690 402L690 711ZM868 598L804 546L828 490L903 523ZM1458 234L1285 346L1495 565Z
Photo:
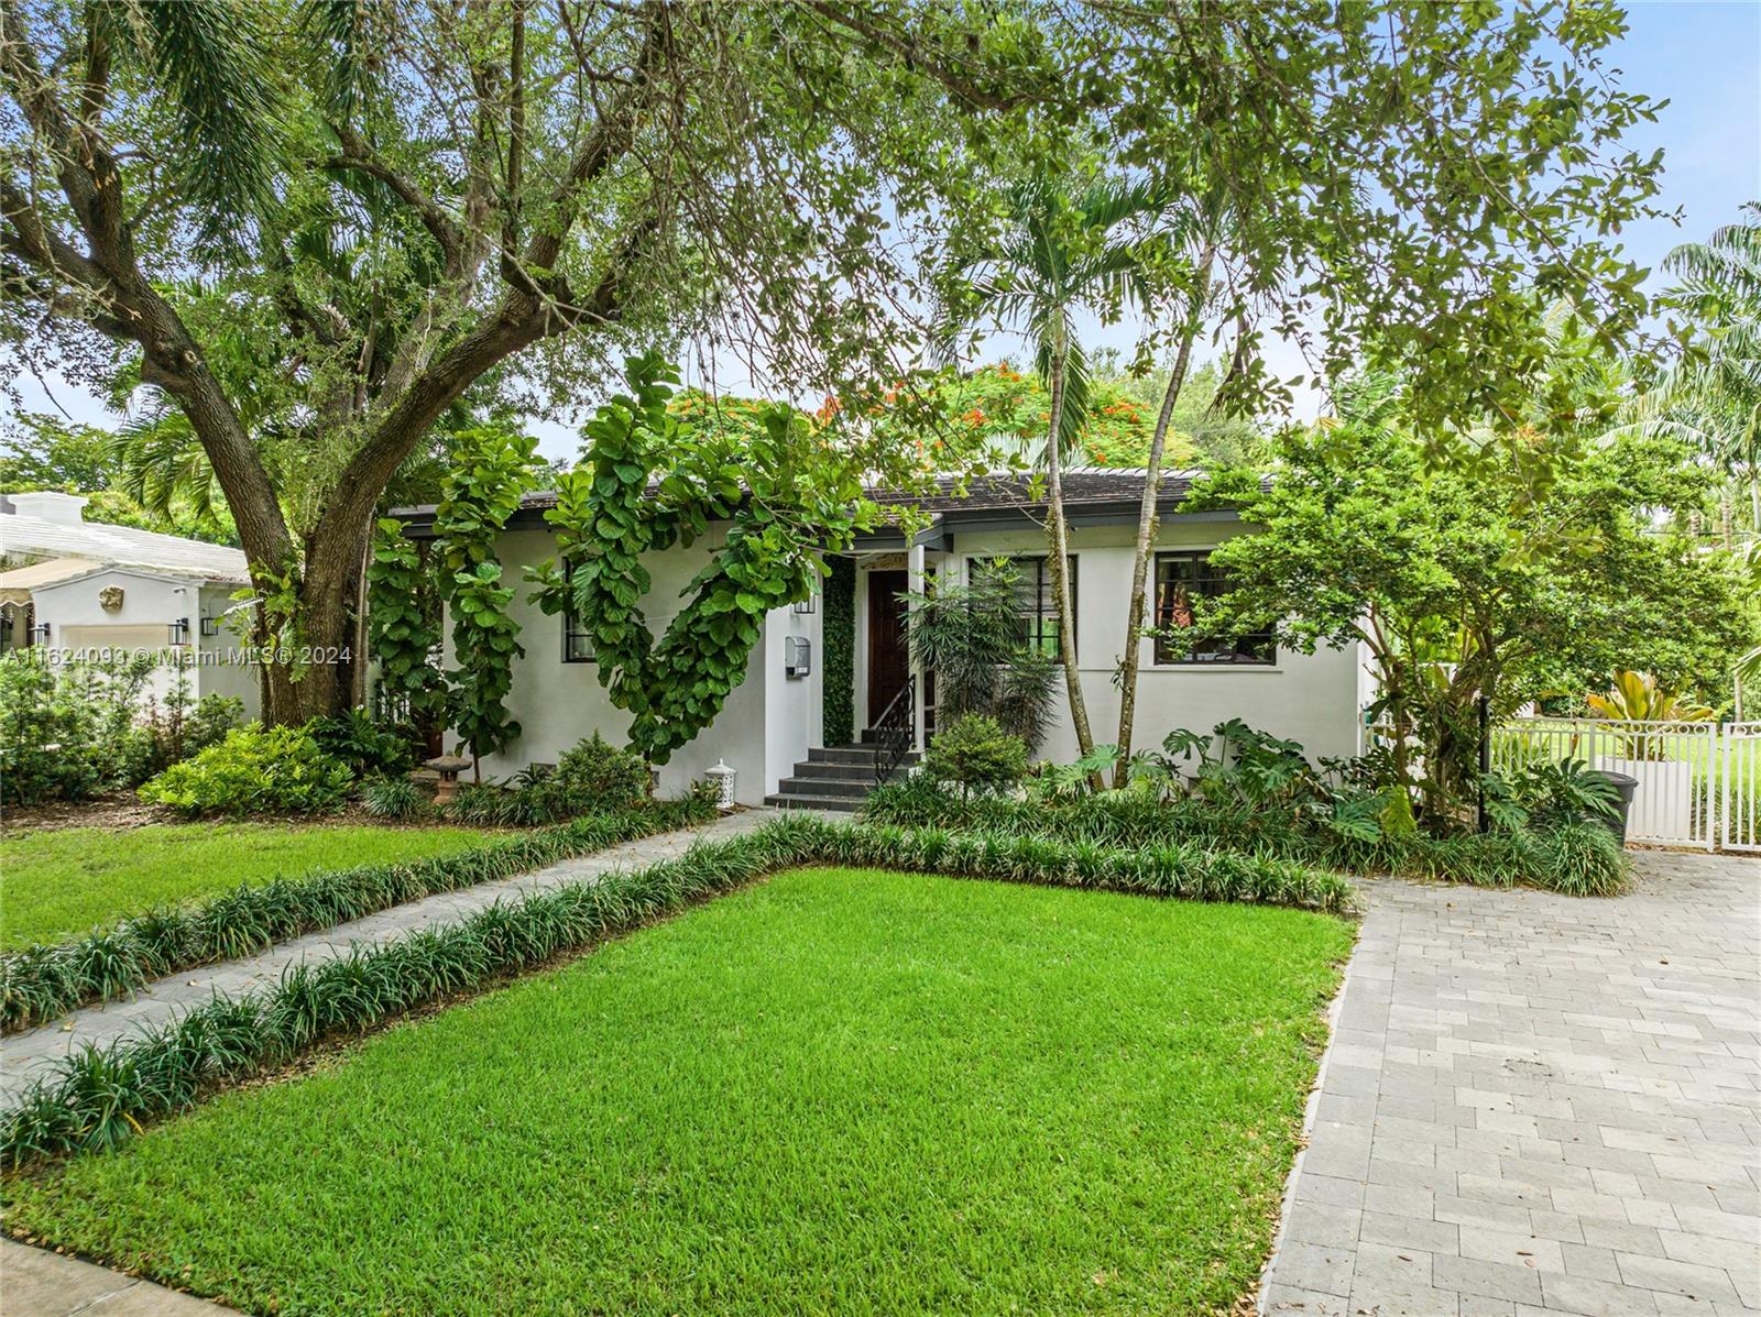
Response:
M1180 521L1164 518L1157 549L1210 549L1227 535L1243 533L1233 521ZM1125 636L1136 526L1076 526L1076 658L1088 727L1095 743L1118 739L1120 692L1113 685ZM937 569L997 555L1043 555L1037 530L954 535L954 551L937 555ZM1153 563L1145 618L1153 622ZM1176 727L1208 731L1226 718L1242 718L1257 731L1300 741L1308 759L1352 755L1359 748L1358 646L1314 655L1278 650L1271 666L1157 664L1155 643L1139 641L1138 711L1132 747L1153 748ZM858 650L861 653L861 650ZM1062 671L1055 703L1057 722L1037 757L1071 762L1078 757Z

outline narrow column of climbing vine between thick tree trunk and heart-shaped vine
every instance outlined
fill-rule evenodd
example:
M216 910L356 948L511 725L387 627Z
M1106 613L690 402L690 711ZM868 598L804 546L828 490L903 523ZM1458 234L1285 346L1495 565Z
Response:
M512 586L502 585L495 541L519 511L537 467L537 440L500 426L477 426L454 438L453 465L435 507L440 539L440 588L453 614L447 673L447 722L472 759L502 750L519 736L507 711L514 658L525 655L519 623L507 613Z

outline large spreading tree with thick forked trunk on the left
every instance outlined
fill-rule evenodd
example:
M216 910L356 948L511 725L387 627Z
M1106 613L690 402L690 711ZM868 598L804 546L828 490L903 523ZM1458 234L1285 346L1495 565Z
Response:
M937 7L0 0L0 343L180 410L259 632L345 646L375 504L486 377L542 412L689 333L796 387L896 375L916 229L983 211L1058 65ZM276 666L264 713L349 687Z

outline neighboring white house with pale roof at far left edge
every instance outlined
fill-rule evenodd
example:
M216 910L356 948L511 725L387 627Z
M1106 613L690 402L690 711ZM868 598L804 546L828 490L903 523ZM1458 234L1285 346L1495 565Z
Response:
M83 521L63 493L0 497L0 648L48 646L62 658L164 653L148 692L187 674L190 695L232 695L255 717L255 669L224 625L248 585L245 555L132 526Z

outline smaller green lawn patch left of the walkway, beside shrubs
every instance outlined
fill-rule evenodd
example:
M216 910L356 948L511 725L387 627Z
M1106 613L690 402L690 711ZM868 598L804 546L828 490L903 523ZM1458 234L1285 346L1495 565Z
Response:
M0 838L0 949L79 937L167 901L276 873L447 856L486 842L468 828L153 824Z

